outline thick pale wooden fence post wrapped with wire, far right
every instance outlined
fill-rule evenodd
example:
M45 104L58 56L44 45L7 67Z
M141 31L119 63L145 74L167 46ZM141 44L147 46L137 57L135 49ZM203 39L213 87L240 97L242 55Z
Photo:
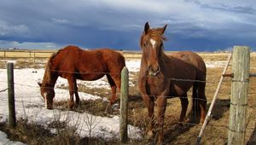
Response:
M235 46L233 49L230 123L228 144L244 145L247 117L250 48Z

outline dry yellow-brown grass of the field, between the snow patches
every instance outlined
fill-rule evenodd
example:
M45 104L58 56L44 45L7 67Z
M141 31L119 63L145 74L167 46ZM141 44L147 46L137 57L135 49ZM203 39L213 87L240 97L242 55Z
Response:
M0 52L0 67L6 67L6 63L4 60L6 59L14 59L14 58L3 58L3 52ZM43 67L45 63L45 54L47 56L50 53L43 53L44 55L40 55L37 53L38 57L42 57L41 60L34 60L31 56L30 58L15 58L18 60L15 64L15 67L25 68L25 67ZM205 61L226 61L228 57L228 53L199 53ZM16 54L17 55L17 54ZM25 57L27 54L20 53L20 57ZM125 57L131 59L131 57L138 57L138 54L126 54ZM6 55L7 56L7 55ZM14 57L14 55L10 55L9 57ZM250 73L256 73L256 55L252 53L251 55L251 69ZM221 73L223 72L223 67L213 67L207 68L207 108L210 106L212 102L212 96L215 93L215 90L218 86L218 80L221 77ZM232 66L230 65L227 73L231 73ZM140 96L140 92L137 87L137 77L138 73L130 73L133 75L133 79L131 80L135 86L130 87L129 94L129 124L136 125L141 128L146 128L148 125L148 112L146 107L144 106L143 100ZM228 131L229 131L229 113L230 113L230 86L231 86L232 78L224 78L224 82L218 94L218 99L216 101L215 106L212 110L211 120L207 125L206 130L201 139L201 144L227 144L228 142ZM247 106L247 129L246 129L246 141L247 144L253 144L253 132L256 132L255 129L255 120L256 120L256 78L250 78L249 80L249 96L248 96L248 106ZM79 86L79 91L84 91L87 93L94 94L95 90L86 88L85 86ZM106 96L106 91L110 92L108 89L97 90L101 95L98 96ZM67 102L55 104L55 106L59 106L59 108L64 109L66 107ZM178 98L168 99L167 108L166 108L166 117L165 117L165 144L195 144L197 136L201 130L201 124L191 124L189 122L190 111L191 111L191 92L189 92L189 108L187 112L187 122L181 126L178 122L179 113L181 111L181 105ZM93 114L97 115L106 115L104 113L104 109L107 104L102 104L102 102L82 102L81 106L78 108L78 112L90 111ZM118 114L117 111L109 111L109 114ZM79 136L73 135L64 132L60 132L59 136L52 136L49 131L46 131L39 125L27 125L26 121L20 120L18 122L18 127L14 131L9 129L7 125L1 124L0 130L8 133L9 137L14 140L20 140L22 142L26 142L27 144L45 144L45 142L40 142L37 138L45 138L48 139L47 144L55 143L55 144L117 144L119 142L116 139L112 141L102 141L102 139L94 138L90 140L88 138L79 138ZM67 129L69 131L73 131L72 129ZM67 131L65 130L65 131ZM38 133L40 132L40 133ZM255 133L254 133L255 134ZM63 137L65 136L65 137ZM30 138L31 137L31 138ZM64 140L65 138L65 140ZM62 140L62 141L61 141ZM58 143L59 142L59 143ZM65 142L65 143L64 143ZM154 141L147 141L145 138L140 140L132 140L127 144L154 144Z

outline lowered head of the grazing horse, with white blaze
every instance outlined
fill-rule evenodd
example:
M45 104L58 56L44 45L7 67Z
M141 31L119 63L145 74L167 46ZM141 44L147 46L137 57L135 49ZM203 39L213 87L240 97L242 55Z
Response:
M45 107L47 109L53 108L53 98L55 97L55 90L45 83L38 83L40 86L41 96L44 98Z

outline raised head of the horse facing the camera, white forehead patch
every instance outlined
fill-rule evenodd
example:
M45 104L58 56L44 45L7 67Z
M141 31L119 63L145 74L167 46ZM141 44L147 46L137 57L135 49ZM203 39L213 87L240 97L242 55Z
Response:
M160 73L160 55L163 53L163 36L166 26L160 28L150 28L148 22L144 26L141 37L141 49L143 49L143 60L146 62L148 74L156 76Z

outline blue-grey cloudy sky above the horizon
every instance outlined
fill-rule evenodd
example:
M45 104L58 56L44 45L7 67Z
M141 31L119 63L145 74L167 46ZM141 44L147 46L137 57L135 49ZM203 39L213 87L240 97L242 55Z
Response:
M145 22L166 50L256 50L255 0L0 0L0 48L139 50Z

